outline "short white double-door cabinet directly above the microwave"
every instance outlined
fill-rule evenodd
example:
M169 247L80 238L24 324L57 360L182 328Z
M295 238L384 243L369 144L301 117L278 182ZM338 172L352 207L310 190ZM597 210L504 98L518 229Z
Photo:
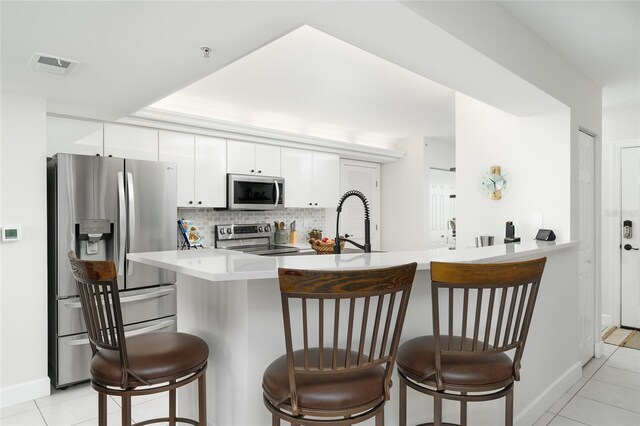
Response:
M280 147L227 141L227 173L280 176Z

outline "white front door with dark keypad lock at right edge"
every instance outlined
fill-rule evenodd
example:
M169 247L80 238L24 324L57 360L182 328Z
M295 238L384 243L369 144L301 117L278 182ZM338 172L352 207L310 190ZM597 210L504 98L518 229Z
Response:
M620 325L640 328L640 147L622 149L621 192Z

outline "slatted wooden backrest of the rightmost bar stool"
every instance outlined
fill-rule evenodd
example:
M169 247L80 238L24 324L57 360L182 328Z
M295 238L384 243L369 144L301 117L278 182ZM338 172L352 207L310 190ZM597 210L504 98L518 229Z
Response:
M478 357L515 349L513 377L520 379L520 360L546 260L544 257L495 264L431 262L438 390L443 389L443 355ZM460 312L455 312L456 309ZM441 311L446 314L441 315ZM447 318L444 331L440 327L443 318ZM442 336L447 336L446 346L442 345Z

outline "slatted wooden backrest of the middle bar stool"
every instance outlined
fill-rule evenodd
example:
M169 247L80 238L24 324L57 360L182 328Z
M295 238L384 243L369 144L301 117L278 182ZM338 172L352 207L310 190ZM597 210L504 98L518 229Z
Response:
M385 367L383 385L389 399L416 266L411 263L367 270L278 270L294 410L297 375L343 374L380 365ZM294 366L296 349L303 350L303 366ZM310 357L310 349L317 350L318 355ZM310 362L316 358L317 363Z

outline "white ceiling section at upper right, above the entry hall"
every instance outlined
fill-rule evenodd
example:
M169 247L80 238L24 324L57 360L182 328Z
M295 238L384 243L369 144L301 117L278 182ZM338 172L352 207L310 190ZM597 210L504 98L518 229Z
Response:
M640 2L501 1L603 87L604 108L640 106Z

